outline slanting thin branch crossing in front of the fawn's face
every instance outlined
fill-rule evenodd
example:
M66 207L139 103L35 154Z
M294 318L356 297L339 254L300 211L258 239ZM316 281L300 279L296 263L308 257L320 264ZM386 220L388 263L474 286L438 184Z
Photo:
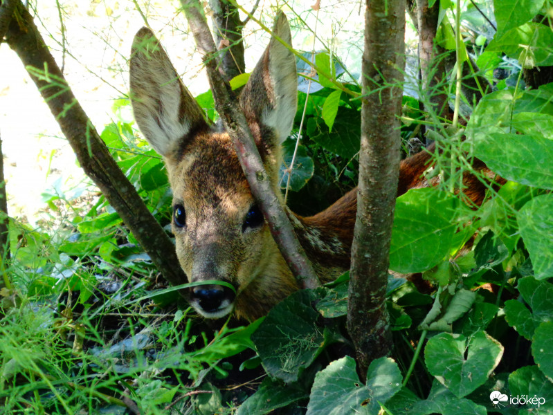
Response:
M203 53L209 82L215 98L215 107L228 135L235 145L237 156L251 187L255 200L260 205L271 234L282 256L302 288L319 286L305 252L293 232L289 218L273 192L269 176L265 172L261 156L255 147L254 138L248 127L237 98L217 71L217 48L208 28L206 17L199 0L181 0L188 24L194 34L198 49Z

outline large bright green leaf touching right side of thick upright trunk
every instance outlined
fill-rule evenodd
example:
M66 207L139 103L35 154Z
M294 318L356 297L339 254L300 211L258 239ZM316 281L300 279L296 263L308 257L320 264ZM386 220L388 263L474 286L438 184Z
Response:
M432 268L451 248L456 200L433 188L409 190L397 198L390 269L419 273Z

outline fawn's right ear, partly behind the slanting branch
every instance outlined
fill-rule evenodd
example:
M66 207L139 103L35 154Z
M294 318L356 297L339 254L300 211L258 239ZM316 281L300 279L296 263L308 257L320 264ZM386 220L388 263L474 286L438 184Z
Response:
M283 12L279 12L273 27L275 36L291 46L290 26ZM296 57L271 37L257 66L240 96L240 104L249 122L271 128L280 145L289 136L298 107Z

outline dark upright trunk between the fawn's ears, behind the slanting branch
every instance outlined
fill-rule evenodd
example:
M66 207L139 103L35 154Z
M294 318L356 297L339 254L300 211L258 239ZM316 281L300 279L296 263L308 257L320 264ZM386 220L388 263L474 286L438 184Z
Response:
M226 81L246 71L242 21L238 9L226 0L210 0L215 43L221 53L219 71Z

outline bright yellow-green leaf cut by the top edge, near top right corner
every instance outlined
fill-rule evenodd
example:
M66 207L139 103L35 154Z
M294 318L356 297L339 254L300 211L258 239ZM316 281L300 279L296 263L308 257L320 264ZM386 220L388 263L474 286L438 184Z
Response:
M498 35L516 28L538 14L544 0L493 0Z

